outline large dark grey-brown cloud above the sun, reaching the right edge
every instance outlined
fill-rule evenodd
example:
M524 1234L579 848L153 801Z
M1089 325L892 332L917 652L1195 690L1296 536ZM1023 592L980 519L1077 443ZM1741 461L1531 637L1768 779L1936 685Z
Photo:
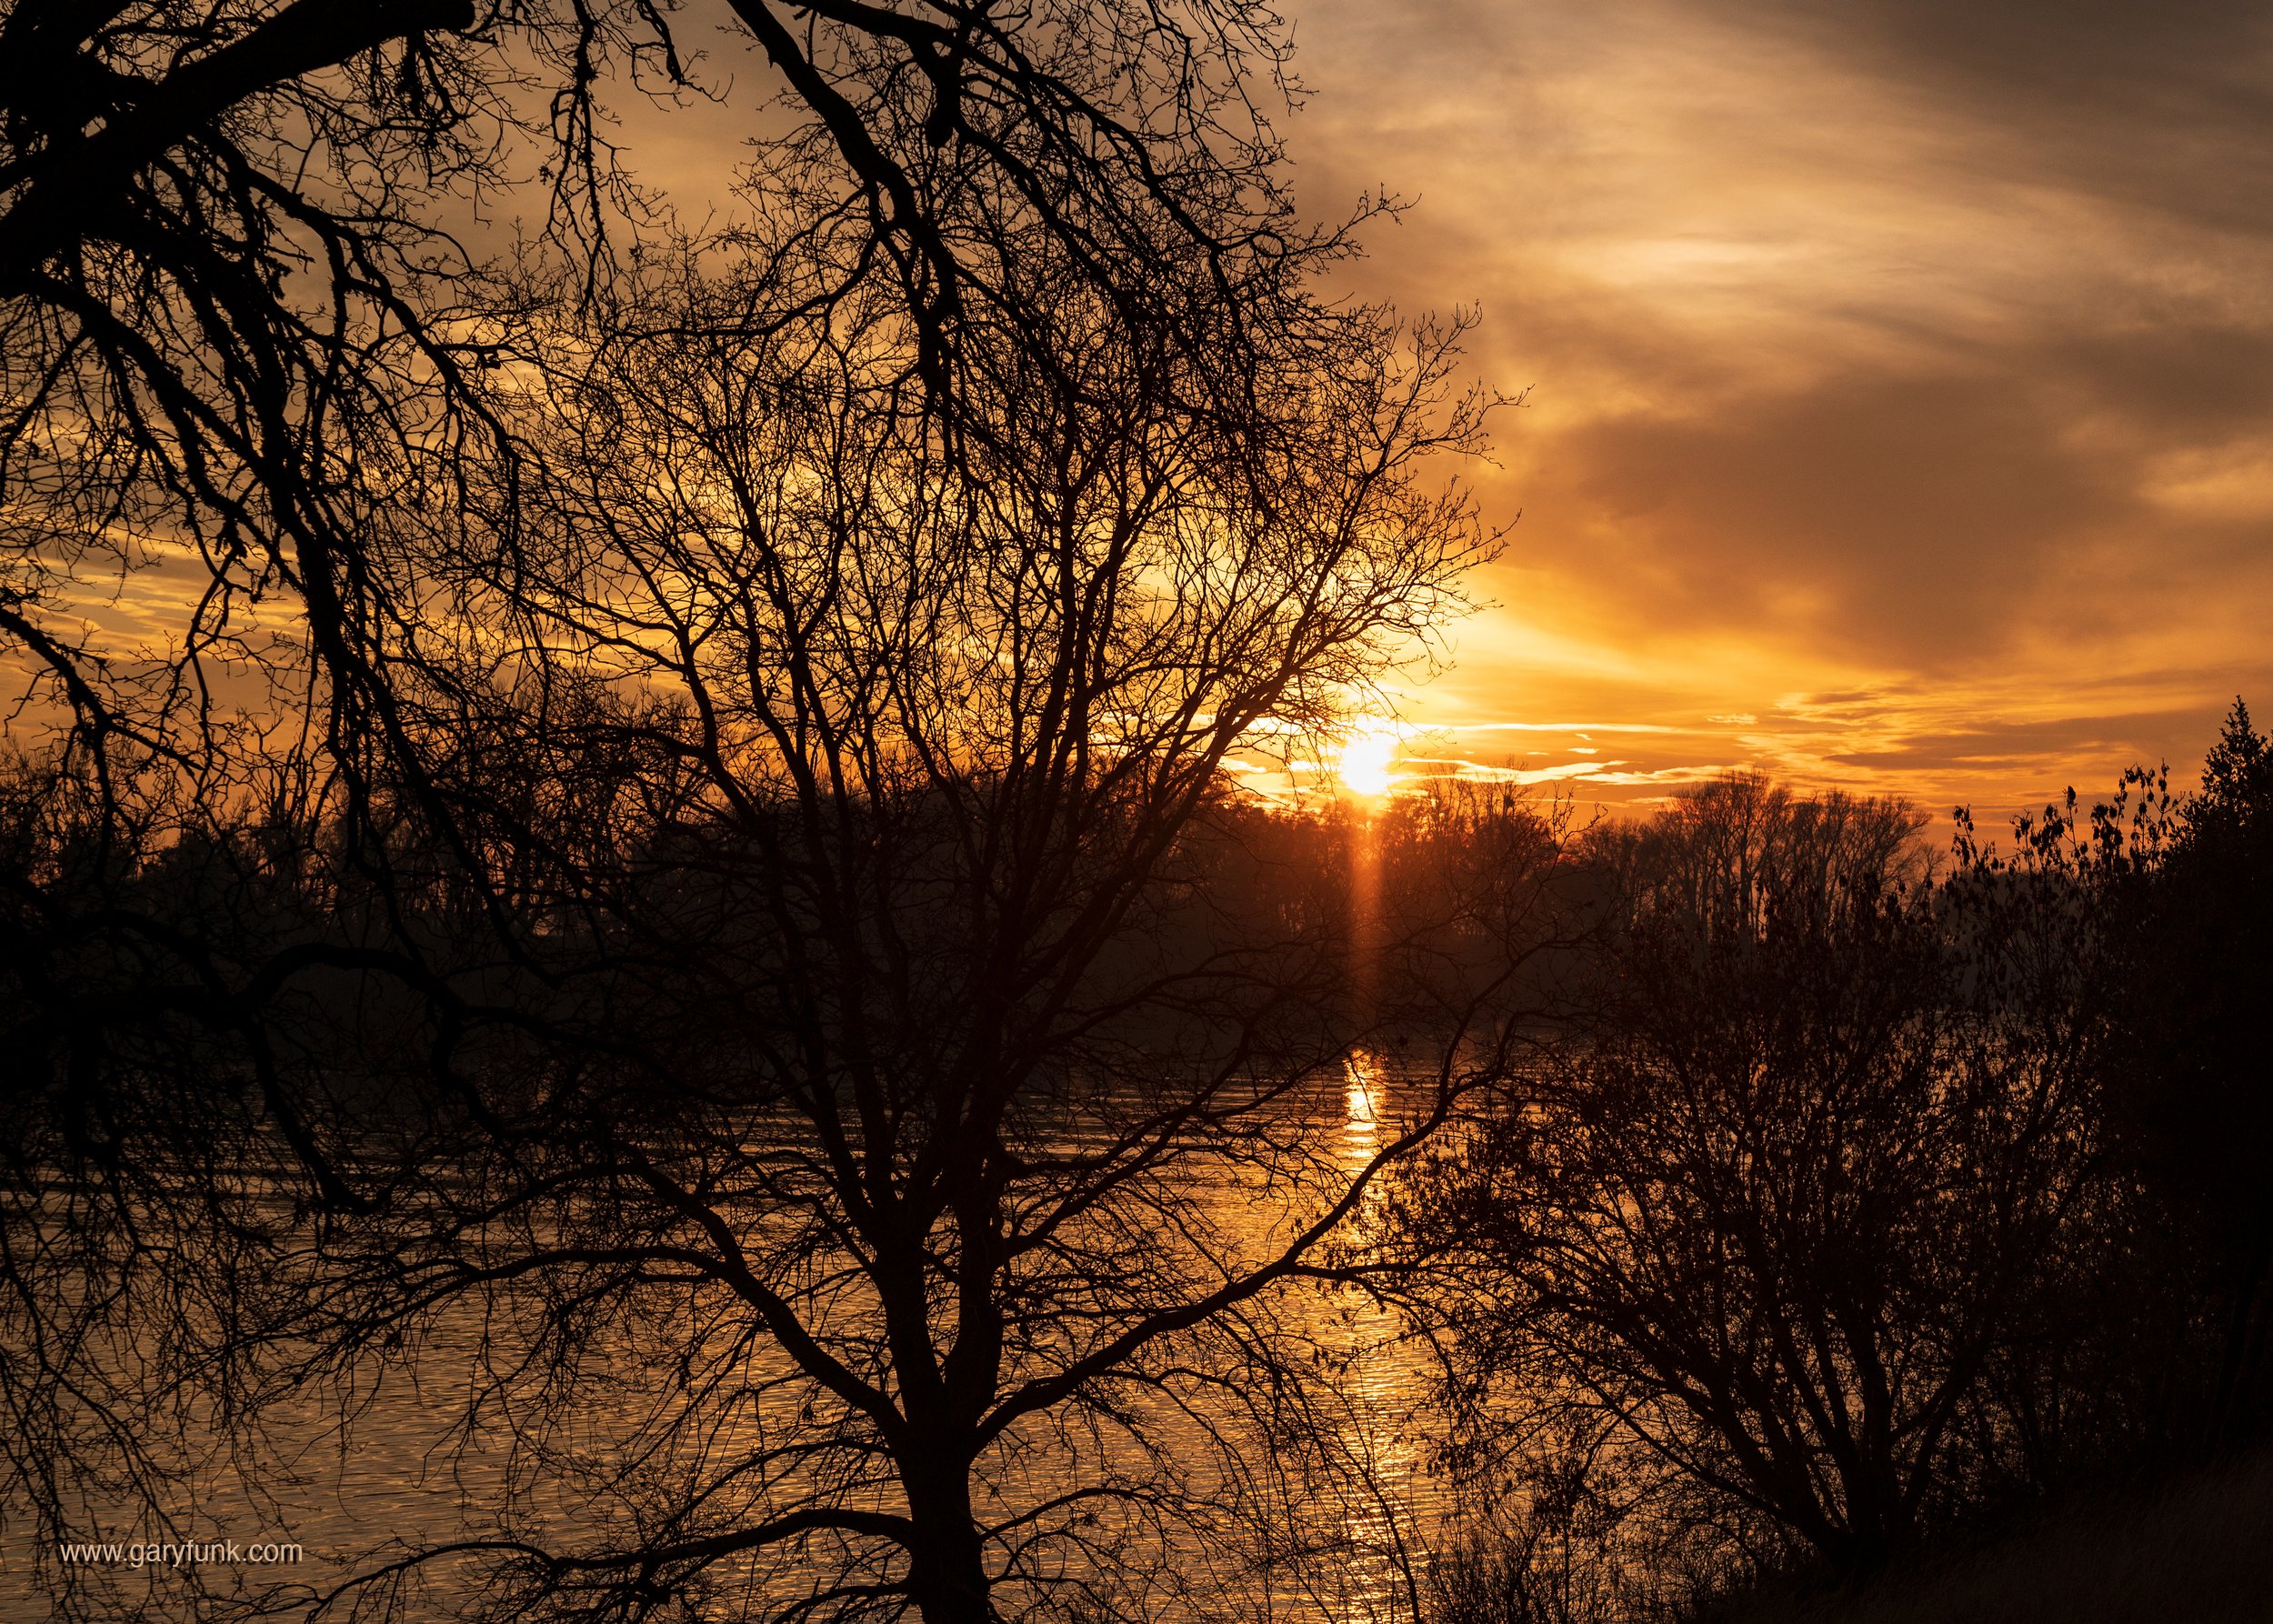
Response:
M1659 628L1912 671L2041 630L2089 657L2189 596L2273 591L2273 523L2150 498L2173 453L2268 446L2264 330L2014 332L1964 364L1573 425L1532 448L1518 548Z

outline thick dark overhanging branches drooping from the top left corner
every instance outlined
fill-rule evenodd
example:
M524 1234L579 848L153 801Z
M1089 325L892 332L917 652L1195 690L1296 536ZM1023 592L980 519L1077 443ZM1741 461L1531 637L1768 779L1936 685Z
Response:
M523 455L468 378L509 316L482 214L541 198L586 293L659 230L602 136L609 98L700 93L673 11L0 9L0 635L111 794L114 751L209 780L239 760L216 726L232 662L236 698L259 669L270 719L323 719L314 753L350 792L400 753L382 641L416 605L384 514ZM1016 330L991 239L957 223L973 198L1057 243L1111 321L1189 346L1187 375L1221 362L1216 387L1241 375L1246 282L1330 241L1275 177L1255 98L1284 45L1259 7L748 0L725 20L791 111L768 184L793 173L800 221L859 241L807 293L891 298L936 400L966 323ZM148 596L166 557L198 575L166 646L91 635L84 594Z

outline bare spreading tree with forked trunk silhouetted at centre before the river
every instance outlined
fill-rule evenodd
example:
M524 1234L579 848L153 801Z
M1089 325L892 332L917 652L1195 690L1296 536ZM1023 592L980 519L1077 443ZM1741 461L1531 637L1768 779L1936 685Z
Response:
M805 241L566 339L564 478L496 587L459 582L493 705L450 719L436 785L700 1046L548 1083L546 1149L484 1158L480 1224L421 1215L450 1240L405 1278L511 1278L607 1312L611 1367L689 1369L632 1451L675 1492L548 1544L530 1597L716 1594L786 1549L800 1606L1127 1606L1068 1556L1162 1492L1130 1463L1216 1378L1196 1337L1239 1344L1450 1108L1334 1165L1300 1092L1343 1037L1330 962L1212 912L1187 832L1232 751L1330 721L1455 607L1489 544L1414 464L1473 419L1427 428L1450 334L1398 359L1291 293L1248 305L1277 328L1248 400L1193 414L1177 350L1127 343L1036 237L1000 262L1048 334L971 339L941 432L896 309L748 318ZM625 798L484 801L591 760L634 762ZM1232 1221L1241 1183L1282 1212ZM714 1383L752 1347L777 1362L743 1415Z

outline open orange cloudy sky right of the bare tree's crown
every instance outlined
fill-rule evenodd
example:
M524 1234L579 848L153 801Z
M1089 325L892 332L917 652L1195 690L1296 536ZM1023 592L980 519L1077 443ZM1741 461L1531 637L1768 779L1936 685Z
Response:
M2273 11L1291 16L1305 207L1414 200L1357 284L1532 391L1414 748L2009 810L2273 712Z

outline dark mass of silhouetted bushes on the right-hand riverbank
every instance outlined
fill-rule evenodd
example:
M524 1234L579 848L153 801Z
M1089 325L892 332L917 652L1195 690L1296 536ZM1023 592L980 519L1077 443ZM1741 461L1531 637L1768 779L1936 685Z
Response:
M2132 1501L2264 1440L2266 739L2237 703L2198 794L1962 823L1939 873L1916 830L1737 778L1593 844L1584 1008L1407 1194L1505 1474L1439 1617L1846 1617L2071 1501L2137 1588L2189 1513ZM2209 1547L2264 1513L2218 1483L2175 1503L2257 1508ZM2189 1549L2262 1597L2241 1533Z

